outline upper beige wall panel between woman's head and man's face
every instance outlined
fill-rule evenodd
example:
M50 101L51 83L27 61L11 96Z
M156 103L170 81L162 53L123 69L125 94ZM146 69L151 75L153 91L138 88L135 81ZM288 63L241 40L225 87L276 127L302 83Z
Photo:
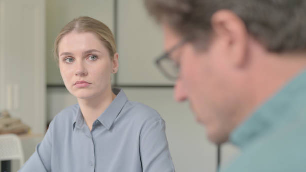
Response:
M163 53L161 28L148 16L142 0L119 0L119 84L160 85L166 79L154 65Z

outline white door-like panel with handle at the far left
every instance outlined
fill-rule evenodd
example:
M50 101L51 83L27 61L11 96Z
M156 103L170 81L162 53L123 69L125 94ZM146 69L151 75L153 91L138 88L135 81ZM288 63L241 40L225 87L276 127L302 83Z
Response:
M34 133L46 123L44 8L44 0L0 0L0 111Z

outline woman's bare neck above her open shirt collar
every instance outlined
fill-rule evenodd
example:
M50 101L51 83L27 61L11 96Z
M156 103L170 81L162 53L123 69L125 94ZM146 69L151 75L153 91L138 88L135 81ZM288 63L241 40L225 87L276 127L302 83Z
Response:
M110 89L109 91L103 92L95 97L77 99L84 120L90 131L92 129L93 122L106 110L115 97L116 95Z

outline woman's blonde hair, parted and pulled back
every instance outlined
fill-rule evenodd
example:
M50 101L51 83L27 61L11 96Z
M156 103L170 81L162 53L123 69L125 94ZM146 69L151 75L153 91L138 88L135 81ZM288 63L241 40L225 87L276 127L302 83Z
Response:
M58 61L58 58L59 58L58 44L60 40L66 34L72 31L77 31L79 33L92 32L96 34L96 36L103 42L103 44L107 48L111 60L113 60L113 56L117 51L116 51L116 44L115 44L114 36L111 30L107 27L107 25L105 25L99 20L96 20L96 19L93 19L87 16L81 16L81 17L73 19L68 24L66 24L61 29L58 36L56 37L56 40L54 42L54 52L53 52L53 56L56 61Z

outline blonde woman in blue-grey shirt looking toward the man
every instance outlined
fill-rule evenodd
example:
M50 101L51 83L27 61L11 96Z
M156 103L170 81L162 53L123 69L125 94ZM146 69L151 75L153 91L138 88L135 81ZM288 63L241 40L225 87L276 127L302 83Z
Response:
M54 117L20 171L174 171L159 114L111 88L118 53L105 24L72 20L57 36L54 54L78 104Z

